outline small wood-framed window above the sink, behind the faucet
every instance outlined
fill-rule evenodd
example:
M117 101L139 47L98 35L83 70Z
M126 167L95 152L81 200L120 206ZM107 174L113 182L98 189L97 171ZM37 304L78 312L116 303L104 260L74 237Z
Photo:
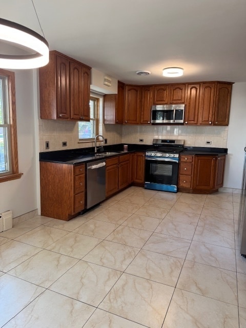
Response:
M99 99L90 97L90 121L78 122L78 138L80 141L94 139L99 128Z

